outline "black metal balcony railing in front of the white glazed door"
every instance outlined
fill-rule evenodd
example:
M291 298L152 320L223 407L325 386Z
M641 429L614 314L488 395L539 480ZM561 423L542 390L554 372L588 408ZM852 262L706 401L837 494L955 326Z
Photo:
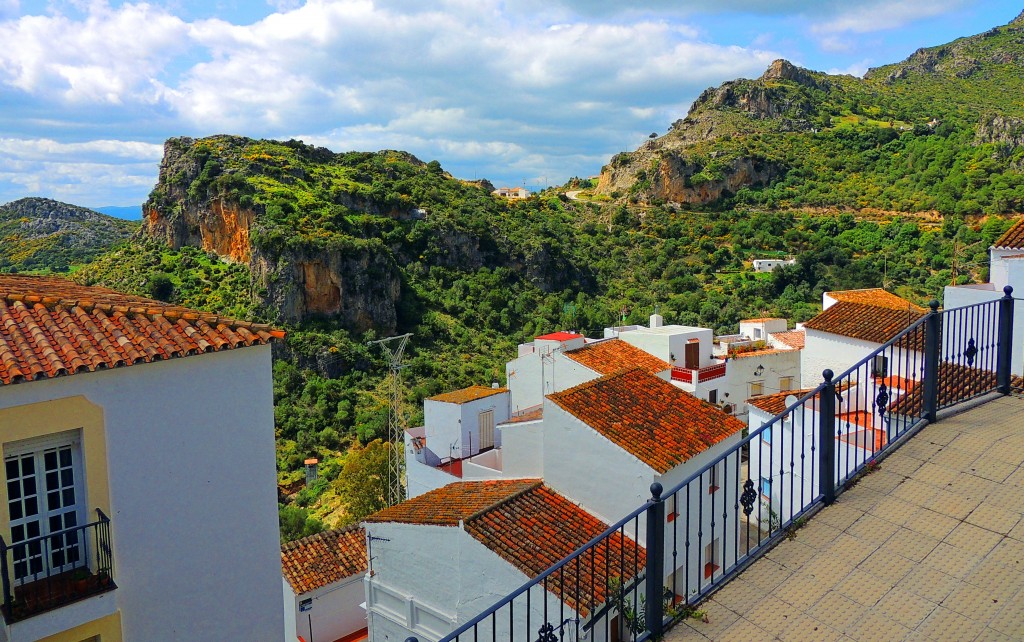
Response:
M116 589L111 519L97 508L81 526L13 544L0 538L0 575L8 625Z

